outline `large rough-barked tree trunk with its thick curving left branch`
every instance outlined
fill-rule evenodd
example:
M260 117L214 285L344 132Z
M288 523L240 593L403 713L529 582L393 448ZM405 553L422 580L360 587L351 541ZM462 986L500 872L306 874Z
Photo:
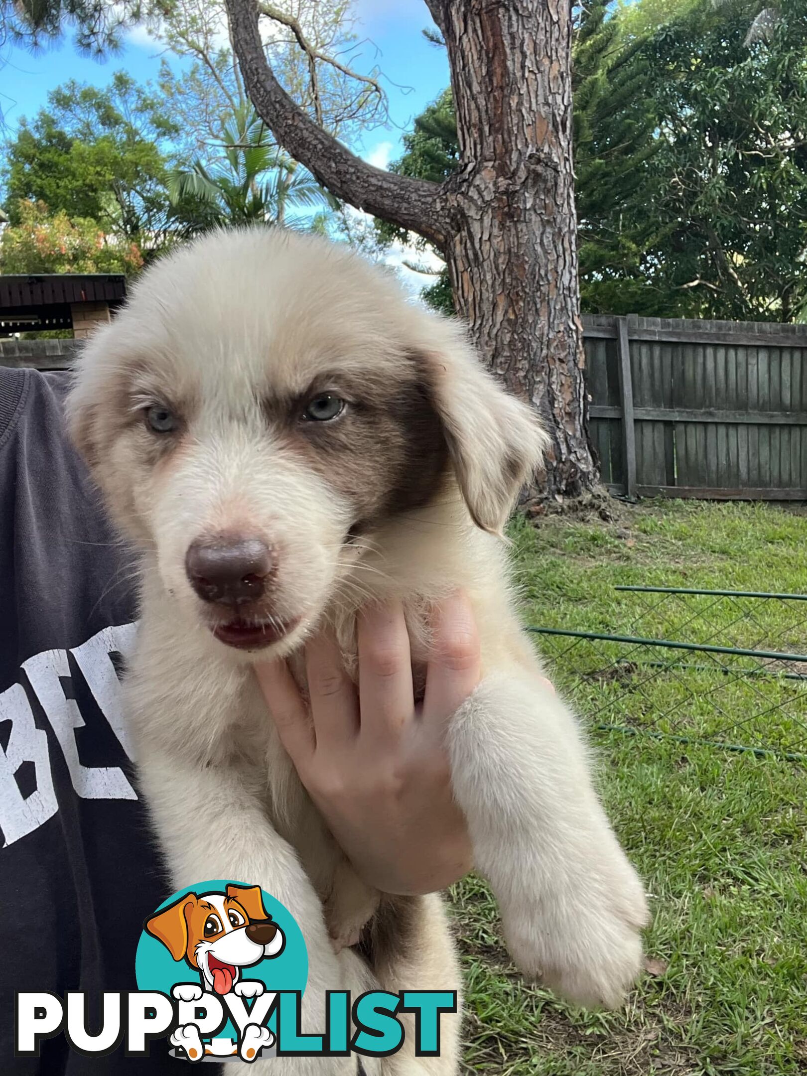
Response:
M278 83L255 0L226 0L250 98L278 142L338 198L447 258L483 359L543 416L553 447L533 502L579 497L587 437L571 158L569 0L426 0L449 51L461 167L438 185L372 168Z

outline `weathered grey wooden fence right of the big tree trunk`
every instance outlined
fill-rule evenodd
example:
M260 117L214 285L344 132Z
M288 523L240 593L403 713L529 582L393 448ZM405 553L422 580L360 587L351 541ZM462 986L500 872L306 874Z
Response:
M609 489L807 500L807 325L583 325L591 438Z

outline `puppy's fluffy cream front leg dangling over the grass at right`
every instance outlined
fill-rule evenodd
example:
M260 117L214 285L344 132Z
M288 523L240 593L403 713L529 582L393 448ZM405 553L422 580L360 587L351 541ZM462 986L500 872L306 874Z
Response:
M492 676L452 718L449 747L516 964L570 1001L617 1005L640 968L647 904L575 718L537 678Z

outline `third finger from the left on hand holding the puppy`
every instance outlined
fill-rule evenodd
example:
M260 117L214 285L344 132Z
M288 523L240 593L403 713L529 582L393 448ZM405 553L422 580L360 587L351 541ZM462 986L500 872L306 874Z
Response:
M414 713L412 659L400 601L363 609L357 639L362 736L397 737Z

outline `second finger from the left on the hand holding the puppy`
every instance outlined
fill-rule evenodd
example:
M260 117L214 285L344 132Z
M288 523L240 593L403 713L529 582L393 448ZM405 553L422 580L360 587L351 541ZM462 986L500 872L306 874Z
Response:
M358 732L358 704L330 632L321 632L306 646L306 671L316 746L343 747Z

